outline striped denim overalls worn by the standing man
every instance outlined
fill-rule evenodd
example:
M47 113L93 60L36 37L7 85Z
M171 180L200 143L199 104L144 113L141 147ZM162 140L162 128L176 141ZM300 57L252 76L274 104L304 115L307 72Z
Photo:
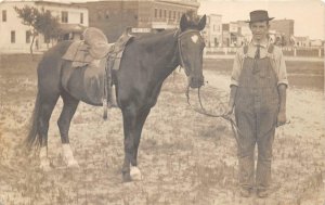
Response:
M255 145L258 146L256 187L268 189L271 182L272 143L278 114L277 76L271 66L273 44L263 59L247 55L235 98L235 117L240 130L238 146L239 183L243 188L255 184ZM256 66L256 67L255 67Z

